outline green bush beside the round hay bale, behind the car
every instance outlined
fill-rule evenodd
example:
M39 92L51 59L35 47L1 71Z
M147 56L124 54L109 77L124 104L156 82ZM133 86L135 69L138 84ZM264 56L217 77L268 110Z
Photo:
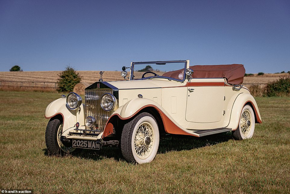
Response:
M59 92L71 92L74 89L75 84L80 83L80 75L71 68L66 67L65 71L61 72L58 78L57 86Z

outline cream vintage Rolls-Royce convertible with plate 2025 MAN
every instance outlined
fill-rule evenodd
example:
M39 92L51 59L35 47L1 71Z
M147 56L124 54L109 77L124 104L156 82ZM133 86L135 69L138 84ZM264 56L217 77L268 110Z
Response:
M122 70L123 81L102 81L100 72L99 81L85 89L84 103L72 92L47 106L49 154L111 146L141 164L154 159L166 135L232 131L241 140L262 122L254 97L241 85L243 65L154 61L131 62Z

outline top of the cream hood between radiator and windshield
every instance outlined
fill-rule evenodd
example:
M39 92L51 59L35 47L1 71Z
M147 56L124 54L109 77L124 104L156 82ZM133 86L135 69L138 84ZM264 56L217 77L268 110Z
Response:
M134 88L162 88L162 87L178 87L184 86L185 83L167 80L162 78L154 78L148 80L127 80L127 81L108 81L109 84L122 89L134 89Z

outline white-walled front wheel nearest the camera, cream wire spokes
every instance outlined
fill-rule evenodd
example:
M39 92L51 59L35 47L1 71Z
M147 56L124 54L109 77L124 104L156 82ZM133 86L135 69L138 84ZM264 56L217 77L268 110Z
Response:
M156 156L159 146L159 129L156 119L141 113L125 124L121 135L121 151L131 163L149 163Z

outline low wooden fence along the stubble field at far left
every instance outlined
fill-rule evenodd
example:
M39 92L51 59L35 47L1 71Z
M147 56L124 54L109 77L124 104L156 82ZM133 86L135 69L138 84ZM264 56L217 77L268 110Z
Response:
M57 88L56 82L43 82L43 81L0 81L1 86L13 86L13 87L48 87Z

